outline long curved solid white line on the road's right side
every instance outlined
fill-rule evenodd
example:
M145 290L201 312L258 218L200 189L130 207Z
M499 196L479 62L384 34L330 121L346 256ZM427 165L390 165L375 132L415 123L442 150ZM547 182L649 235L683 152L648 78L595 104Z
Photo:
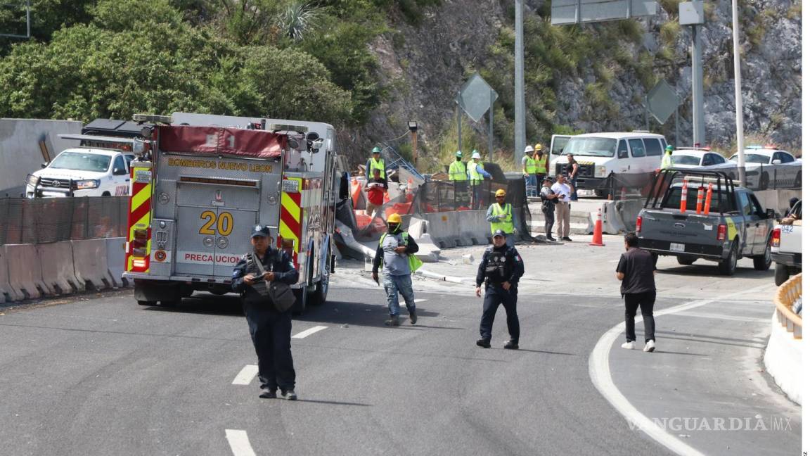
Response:
M772 286L770 284L765 286L757 286L749 290L727 295L726 297L731 298L732 296L744 295L746 293L765 290L771 287ZM654 312L654 315L662 316L693 308L699 308L716 301L723 301L723 298L691 301L689 303L683 303L671 308L663 309L660 312ZM640 321L642 321L642 316L637 316L636 322ZM633 424L634 427L646 432L648 436L652 437L655 441L658 441L661 445L666 446L669 450L672 450L672 452L676 454L703 456L700 451L695 450L693 447L687 445L684 441L680 441L678 437L668 433L663 428L659 428L659 426L654 424L651 419L647 418L646 415L643 415L642 412L638 411L636 407L633 407L633 404L631 404L627 398L625 398L624 394L621 394L619 389L616 387L616 384L613 383L613 378L610 373L610 351L616 342L616 338L624 332L625 322L622 321L618 325L609 329L607 333L602 334L602 337L599 338L599 342L596 342L596 346L594 347L594 350L590 352L590 359L588 360L588 371L590 373L591 383L594 384L596 389L599 389L599 393L601 393L604 398L608 399L608 402L610 402L611 405L616 408L616 411L627 419L628 425Z

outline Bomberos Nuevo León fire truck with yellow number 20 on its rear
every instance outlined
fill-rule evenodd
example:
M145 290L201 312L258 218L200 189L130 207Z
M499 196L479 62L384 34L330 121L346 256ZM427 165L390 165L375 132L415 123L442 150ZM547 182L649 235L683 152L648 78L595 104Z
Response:
M173 305L195 290L229 292L233 266L252 248L256 225L270 227L275 245L301 273L294 310L326 301L334 268L335 169L325 147L331 144L305 128L242 125L250 129L210 122L145 129L148 140L132 162L124 273L139 304ZM291 171L305 157L329 165Z

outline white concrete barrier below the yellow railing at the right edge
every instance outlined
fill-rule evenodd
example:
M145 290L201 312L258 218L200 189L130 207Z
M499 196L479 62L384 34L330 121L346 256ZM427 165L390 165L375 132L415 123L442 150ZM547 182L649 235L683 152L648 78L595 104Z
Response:
M802 403L804 389L804 364L802 363L802 340L793 338L779 323L774 311L770 325L770 339L765 347L765 368L791 401Z

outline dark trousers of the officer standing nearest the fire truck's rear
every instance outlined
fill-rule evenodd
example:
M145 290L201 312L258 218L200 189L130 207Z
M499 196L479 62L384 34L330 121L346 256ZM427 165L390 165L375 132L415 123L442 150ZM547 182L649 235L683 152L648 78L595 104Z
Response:
M258 356L258 380L262 388L293 389L296 370L292 367L290 333L292 310L278 312L271 303L242 300L250 338Z

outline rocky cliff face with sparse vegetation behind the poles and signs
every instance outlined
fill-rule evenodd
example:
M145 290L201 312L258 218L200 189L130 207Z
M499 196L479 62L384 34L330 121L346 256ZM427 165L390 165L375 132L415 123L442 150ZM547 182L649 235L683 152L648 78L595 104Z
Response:
M731 6L719 1L706 4L707 22L702 33L706 139L709 144L731 148L735 142ZM528 21L548 21L549 5L549 0L527 0L524 15ZM800 148L801 137L800 8L799 0L740 1L746 136L795 151ZM371 122L354 132L354 146L350 148L364 149L373 142L400 136L406 131L407 120L416 119L426 152L436 152L442 138L455 134L456 91L475 71L487 69L503 83L496 87L500 95L496 112L502 113L497 119L496 148L510 150L514 70L508 52L510 41L506 45L503 41L514 30L513 12L514 2L509 0L446 0L424 11L418 25L392 26L392 31L373 45L390 96ZM527 78L529 142L548 141L553 130L560 127L578 131L643 128L643 100L652 85L663 79L683 99L678 111L677 144L690 145L691 45L688 29L677 26L676 12L677 2L663 2L659 15L635 19L636 24L631 24L641 32L637 39L625 37L620 42L605 42L606 37L616 37L606 32L618 27L618 22L569 26L581 27L592 36L595 53L575 62L573 71L556 71L550 81ZM392 23L403 24L396 18ZM599 49L601 46L604 49ZM564 46L561 51L565 54ZM531 67L527 66L527 71ZM548 94L549 89L556 98L552 105L546 102L543 109L530 109L533 98ZM672 118L663 126L650 119L650 127L675 140ZM481 131L485 133L485 128Z

